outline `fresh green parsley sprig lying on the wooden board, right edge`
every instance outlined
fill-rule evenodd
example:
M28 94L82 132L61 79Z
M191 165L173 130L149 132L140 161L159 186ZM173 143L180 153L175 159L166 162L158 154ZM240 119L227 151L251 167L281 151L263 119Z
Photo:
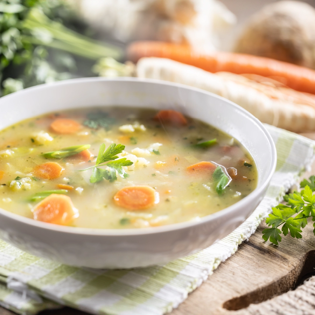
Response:
M301 192L293 192L284 196L286 204L278 204L272 208L272 213L266 219L268 226L262 231L262 238L278 245L281 242L282 233L284 236L290 234L292 237L302 238L301 232L307 224L307 218L312 217L315 221L315 176L311 176L309 180L304 179L300 186L304 188ZM279 226L281 227L278 229ZM313 224L315 227L315 223ZM313 230L315 234L315 228Z

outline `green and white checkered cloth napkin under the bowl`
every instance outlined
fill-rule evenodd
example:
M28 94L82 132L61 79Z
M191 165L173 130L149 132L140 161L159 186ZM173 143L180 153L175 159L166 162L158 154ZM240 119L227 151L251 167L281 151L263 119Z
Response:
M133 270L97 270L59 264L0 241L0 305L21 314L58 306L110 315L162 315L177 307L257 226L310 167L315 141L266 128L276 143L278 163L265 198L234 232L197 254L165 265Z

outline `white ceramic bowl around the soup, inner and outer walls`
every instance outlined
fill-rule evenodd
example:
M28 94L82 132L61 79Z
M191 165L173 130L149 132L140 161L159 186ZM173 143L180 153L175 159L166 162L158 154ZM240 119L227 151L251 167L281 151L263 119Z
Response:
M200 221L142 229L88 229L34 221L0 209L0 238L31 254L75 266L131 268L192 254L237 228L263 198L276 166L264 126L238 105L200 89L156 80L83 78L2 97L0 129L47 112L88 106L173 108L238 139L255 159L257 188Z

